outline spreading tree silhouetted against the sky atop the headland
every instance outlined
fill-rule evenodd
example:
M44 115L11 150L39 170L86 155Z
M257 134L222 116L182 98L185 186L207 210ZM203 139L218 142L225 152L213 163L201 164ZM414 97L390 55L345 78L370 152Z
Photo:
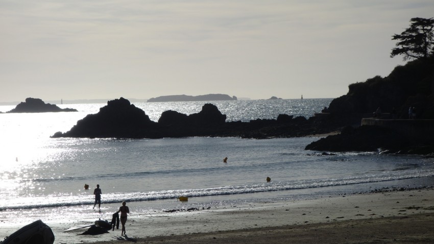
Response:
M390 57L403 55L404 60L420 59L434 53L434 18L412 18L411 25L392 40L398 40Z

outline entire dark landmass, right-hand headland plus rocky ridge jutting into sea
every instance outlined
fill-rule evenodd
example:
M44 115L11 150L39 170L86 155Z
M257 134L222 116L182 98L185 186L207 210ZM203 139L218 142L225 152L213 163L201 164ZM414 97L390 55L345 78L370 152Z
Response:
M394 115L398 119L407 119L409 106L417 108L417 118L433 119L433 70L434 58L415 60L396 67L386 78L374 77L364 83L351 84L349 92L334 99L328 108L323 109L324 113L308 119L280 114L277 119L226 122L226 115L221 114L215 105L205 104L202 111L196 114L165 111L158 123L154 123L144 111L121 98L119 102L110 101L98 114L79 120L70 131L58 132L53 137L227 136L265 139L342 131L339 135L312 142L305 149L432 154L434 142L422 138L432 138L434 132L433 135L421 136L384 126L360 127L360 124L361 118L372 117L378 107L381 107L382 117L377 119L383 119L393 108L396 108Z

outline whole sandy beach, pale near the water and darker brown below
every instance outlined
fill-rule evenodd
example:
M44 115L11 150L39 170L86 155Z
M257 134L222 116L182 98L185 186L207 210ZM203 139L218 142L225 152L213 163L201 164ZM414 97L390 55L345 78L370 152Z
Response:
M78 235L86 228L62 232L71 226L47 224L55 243L68 244L434 243L433 201L429 188L152 214L131 209L127 236L120 229Z

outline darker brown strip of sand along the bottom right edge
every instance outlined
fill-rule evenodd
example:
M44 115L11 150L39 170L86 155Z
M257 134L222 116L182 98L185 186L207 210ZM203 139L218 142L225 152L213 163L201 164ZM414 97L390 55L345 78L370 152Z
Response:
M433 243L434 214L126 239L137 243ZM119 241L100 242L119 243ZM126 243L126 242L124 242Z

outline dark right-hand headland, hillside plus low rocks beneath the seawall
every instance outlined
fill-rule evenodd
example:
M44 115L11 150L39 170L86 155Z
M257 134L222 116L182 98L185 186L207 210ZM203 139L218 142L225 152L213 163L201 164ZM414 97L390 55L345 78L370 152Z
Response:
M361 118L372 117L378 107L379 119L408 119L409 107L416 107L416 118L434 119L434 57L397 66L388 77L376 76L366 82L349 85L346 95L331 101L324 116L327 123L352 126L340 135L328 136L312 142L306 150L317 151L382 151L402 154L434 154L432 127L415 133L417 121L407 121L403 129L361 126ZM385 112L385 113L384 113Z

